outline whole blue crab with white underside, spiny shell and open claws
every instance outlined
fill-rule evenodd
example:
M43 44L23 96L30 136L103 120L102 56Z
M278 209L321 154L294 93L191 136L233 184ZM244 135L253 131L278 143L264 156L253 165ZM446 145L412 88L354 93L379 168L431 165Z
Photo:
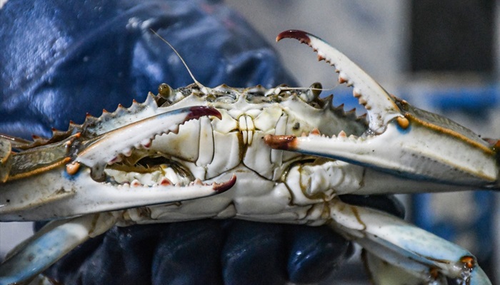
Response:
M328 43L306 43L366 109L321 85L266 89L161 85L50 139L0 136L0 220L54 219L0 266L24 284L115 224L190 219L329 224L366 250L374 284L491 284L466 249L342 195L498 189L498 142L390 95Z

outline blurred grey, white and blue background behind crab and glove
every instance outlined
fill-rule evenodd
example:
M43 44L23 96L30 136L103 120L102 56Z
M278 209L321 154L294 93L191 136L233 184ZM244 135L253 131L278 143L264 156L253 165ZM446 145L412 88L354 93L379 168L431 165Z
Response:
M2 1L0 0L0 6ZM497 1L338 0L226 1L269 41L287 29L324 38L390 93L412 105L452 118L486 138L500 138L500 43ZM333 68L317 62L310 48L295 41L276 44L281 59L306 87L319 81L334 88L334 105L358 108L351 90L337 86ZM360 114L363 110L359 110ZM499 280L500 241L493 192L401 197L407 218L461 244ZM9 234L16 232L15 235ZM1 223L0 257L24 236L30 224ZM354 278L361 265L353 261ZM357 266L357 267L356 267ZM356 281L354 283L358 284ZM493 281L494 284L498 282Z

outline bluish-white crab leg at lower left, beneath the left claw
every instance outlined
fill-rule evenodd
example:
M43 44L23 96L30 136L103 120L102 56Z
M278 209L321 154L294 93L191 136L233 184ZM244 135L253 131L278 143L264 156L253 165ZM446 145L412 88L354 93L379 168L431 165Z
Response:
M0 266L0 285L30 281L71 249L106 232L115 222L116 217L108 212L46 224L9 253Z

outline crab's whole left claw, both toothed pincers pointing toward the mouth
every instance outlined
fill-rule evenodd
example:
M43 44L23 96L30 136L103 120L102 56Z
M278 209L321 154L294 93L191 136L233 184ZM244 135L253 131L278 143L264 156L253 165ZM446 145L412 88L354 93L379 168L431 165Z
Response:
M155 176L156 178L146 175L147 182L144 184L139 180L116 181L114 177L109 176L105 176L102 181L94 179L96 172L104 173L104 167L110 164L114 157L126 152L126 149L131 149L145 140L151 140L159 133L175 132L181 123L204 115L214 115L219 118L221 116L214 108L204 106L182 108L115 128L89 141L82 142L79 135L74 135L42 149L34 148L30 152L19 152L16 154L16 160L29 161L30 163L26 162L21 166L30 167L16 165L15 175L12 175L11 171L7 181L0 183L0 221L61 219L198 199L229 190L236 183L235 175L220 183L204 183L201 180L174 183L161 175ZM4 138L0 139L2 142ZM72 142L72 139L78 143ZM66 145L81 147L81 151L72 162L66 155L66 150L71 147L65 147ZM39 163L31 160L33 157L39 157L47 147L62 154L55 155L56 160L39 167ZM9 145L0 150L0 156L7 157L8 161L10 152L6 150L9 150ZM59 152L54 153L59 154ZM115 171L119 172L118 176L126 175L119 170Z

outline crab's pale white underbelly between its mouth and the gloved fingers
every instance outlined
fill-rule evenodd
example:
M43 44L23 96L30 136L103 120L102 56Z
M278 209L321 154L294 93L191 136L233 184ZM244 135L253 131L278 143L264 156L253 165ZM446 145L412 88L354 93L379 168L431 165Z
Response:
M296 204L294 194L284 182L267 180L244 165L216 177L213 181L228 180L236 174L236 185L230 190L206 197L173 204L128 209L124 224L136 222L180 222L193 219L247 219L258 222L293 224L324 224L327 202L311 200ZM212 181L212 180L211 180ZM324 218L323 218L324 217Z

